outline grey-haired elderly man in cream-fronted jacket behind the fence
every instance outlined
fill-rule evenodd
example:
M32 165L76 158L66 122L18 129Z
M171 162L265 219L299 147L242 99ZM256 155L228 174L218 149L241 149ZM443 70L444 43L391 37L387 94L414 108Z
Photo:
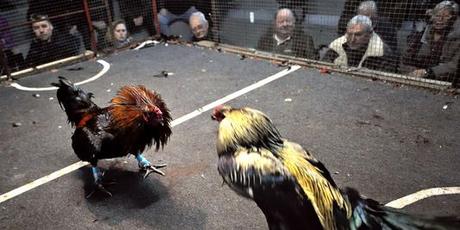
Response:
M364 15L353 17L344 36L329 44L322 61L341 67L368 68L394 72L395 61L390 48L373 31L371 20Z

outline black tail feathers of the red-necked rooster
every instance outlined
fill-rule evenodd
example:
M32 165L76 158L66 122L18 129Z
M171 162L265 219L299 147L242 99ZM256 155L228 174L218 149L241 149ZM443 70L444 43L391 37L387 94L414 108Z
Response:
M65 77L59 76L59 81L51 85L58 87L56 96L59 105L66 112L68 121L72 125L78 123L85 114L98 109L91 101L92 93L84 92Z

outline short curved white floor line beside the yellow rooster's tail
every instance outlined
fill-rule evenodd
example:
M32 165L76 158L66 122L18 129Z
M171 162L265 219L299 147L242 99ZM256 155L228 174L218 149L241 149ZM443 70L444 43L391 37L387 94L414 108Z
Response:
M441 188L429 188L420 190L410 195L401 197L397 200L391 201L385 206L392 208L404 208L407 205L413 204L419 200L423 200L432 196L460 194L460 187L441 187Z

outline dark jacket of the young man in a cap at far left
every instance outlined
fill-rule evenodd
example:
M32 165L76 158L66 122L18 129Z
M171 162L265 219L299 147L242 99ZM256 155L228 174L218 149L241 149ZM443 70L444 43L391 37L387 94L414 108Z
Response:
M77 55L78 44L78 39L68 33L53 33L50 41L34 39L25 62L32 67Z

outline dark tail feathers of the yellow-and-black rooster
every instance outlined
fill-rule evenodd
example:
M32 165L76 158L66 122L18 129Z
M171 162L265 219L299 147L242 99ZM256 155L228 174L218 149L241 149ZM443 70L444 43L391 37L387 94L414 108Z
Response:
M350 229L460 229L460 219L457 217L429 219L413 216L384 207L375 200L365 199L352 188L346 188L343 193L353 208Z

